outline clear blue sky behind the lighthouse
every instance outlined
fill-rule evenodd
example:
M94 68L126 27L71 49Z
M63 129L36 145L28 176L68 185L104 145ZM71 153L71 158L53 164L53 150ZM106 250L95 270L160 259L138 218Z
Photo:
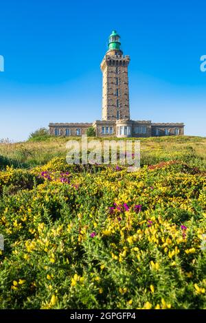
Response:
M206 136L205 1L7 0L0 12L0 138L100 120L113 29L131 58L131 118L185 122L187 135Z

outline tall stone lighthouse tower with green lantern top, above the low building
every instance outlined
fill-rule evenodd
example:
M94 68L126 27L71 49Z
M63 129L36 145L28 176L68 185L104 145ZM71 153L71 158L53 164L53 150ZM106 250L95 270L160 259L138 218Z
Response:
M130 56L120 49L120 36L115 30L108 38L108 51L101 63L102 120L129 120L128 65Z

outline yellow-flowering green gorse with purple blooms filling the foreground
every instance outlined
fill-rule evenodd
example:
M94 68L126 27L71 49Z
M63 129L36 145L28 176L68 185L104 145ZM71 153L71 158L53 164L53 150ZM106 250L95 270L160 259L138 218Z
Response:
M205 184L181 161L1 171L0 308L205 308Z

